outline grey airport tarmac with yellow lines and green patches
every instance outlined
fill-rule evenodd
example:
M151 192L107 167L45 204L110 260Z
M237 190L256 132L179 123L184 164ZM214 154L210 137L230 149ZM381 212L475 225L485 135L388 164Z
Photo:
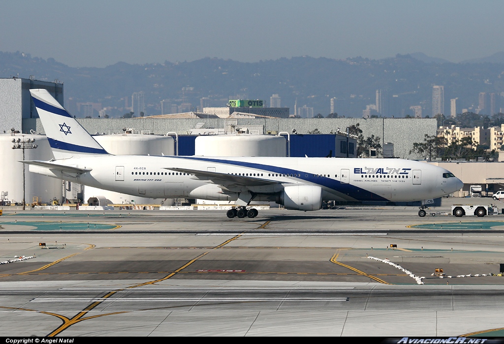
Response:
M503 336L504 216L417 211L4 211L0 261L34 258L0 265L0 327L6 336Z

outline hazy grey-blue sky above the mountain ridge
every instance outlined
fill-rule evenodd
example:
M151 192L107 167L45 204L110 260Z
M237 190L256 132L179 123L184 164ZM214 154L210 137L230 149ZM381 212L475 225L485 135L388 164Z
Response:
M0 10L0 51L72 67L418 51L460 62L504 51L500 0L4 0Z

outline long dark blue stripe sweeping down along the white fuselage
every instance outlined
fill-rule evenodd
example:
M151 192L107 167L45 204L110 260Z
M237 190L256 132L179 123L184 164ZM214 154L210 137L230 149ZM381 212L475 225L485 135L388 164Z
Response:
M265 164L260 164L260 163L254 163L254 162L246 162L246 161L234 161L234 160L223 160L223 159L209 159L209 158L201 158L201 157L192 157L192 156L170 156L174 158L181 158L181 159L190 159L190 160L200 160L200 161L210 161L210 162L217 162L217 163L225 163L225 164L230 164L230 165L236 165L236 166L241 166L241 167L248 167L248 168L257 168L257 169L262 169L262 170L267 170L271 171L271 173L278 173L278 174L285 174L285 175L290 175L290 174L296 174L300 175L301 177L296 177L297 179L304 180L309 183L313 184L318 184L323 187L326 187L328 189L340 192L342 194L345 194L347 196L353 197L356 200L359 201L388 201L388 199L376 195L366 189L359 188L355 185L351 184L345 184L341 183L340 181L327 178L327 177L313 177L313 174L299 171L296 169L290 169L290 168L284 168L284 167L278 167L278 166L272 166L272 165L265 165ZM305 177L307 175L307 177Z

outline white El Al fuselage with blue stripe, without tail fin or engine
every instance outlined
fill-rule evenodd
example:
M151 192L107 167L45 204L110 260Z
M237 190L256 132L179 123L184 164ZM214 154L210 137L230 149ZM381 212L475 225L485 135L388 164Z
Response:
M284 186L316 185L322 188L325 201L418 201L446 196L462 187L459 179L444 178L449 172L444 168L403 159L103 155L54 162L92 170L77 175L31 165L30 171L149 198L236 200L240 192L248 190L257 194L256 200L273 200L271 195ZM217 177L198 177L170 168L276 183L227 183L223 189Z

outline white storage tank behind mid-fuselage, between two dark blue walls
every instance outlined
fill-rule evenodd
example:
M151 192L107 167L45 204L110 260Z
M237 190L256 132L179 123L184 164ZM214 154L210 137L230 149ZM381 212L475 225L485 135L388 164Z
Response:
M195 155L200 156L287 156L287 141L273 135L199 136Z

